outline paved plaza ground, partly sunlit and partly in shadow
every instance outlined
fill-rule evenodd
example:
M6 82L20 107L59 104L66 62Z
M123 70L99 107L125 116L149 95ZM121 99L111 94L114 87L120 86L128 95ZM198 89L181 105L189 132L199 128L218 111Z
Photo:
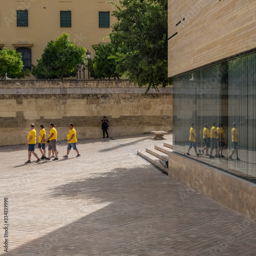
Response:
M153 136L80 140L69 159L59 142L58 161L29 165L24 145L0 147L0 256L256 255L256 222L135 154L168 141Z

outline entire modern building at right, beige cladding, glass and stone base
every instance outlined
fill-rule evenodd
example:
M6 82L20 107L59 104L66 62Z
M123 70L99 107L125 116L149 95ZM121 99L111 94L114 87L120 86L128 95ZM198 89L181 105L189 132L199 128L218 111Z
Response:
M255 220L255 0L168 1L168 76L169 176Z

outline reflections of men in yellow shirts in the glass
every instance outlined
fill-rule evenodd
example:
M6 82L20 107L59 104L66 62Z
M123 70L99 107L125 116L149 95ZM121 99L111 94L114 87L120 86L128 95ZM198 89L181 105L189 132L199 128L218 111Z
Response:
M204 155L204 151L206 151L205 156L209 156L209 158L224 157L222 155L222 151L223 151L223 147L225 146L225 134L222 127L223 127L223 123L217 125L217 123L214 122L209 131L208 124L207 123L204 124L203 139L204 139L205 146L204 148L202 148L202 150L199 150L199 153L198 153L197 145L196 145L195 123L192 123L190 128L190 133L189 133L189 148L187 151L187 155L190 156L189 151L192 147L194 147L197 156ZM232 156L234 153L236 153L236 156L237 156L236 159L240 161L238 157L238 131L236 129L236 123L233 123L231 135L232 135L233 151L229 156L229 159L233 160ZM209 148L210 148L210 154L208 153ZM216 152L216 155L212 156L212 153L214 150Z

